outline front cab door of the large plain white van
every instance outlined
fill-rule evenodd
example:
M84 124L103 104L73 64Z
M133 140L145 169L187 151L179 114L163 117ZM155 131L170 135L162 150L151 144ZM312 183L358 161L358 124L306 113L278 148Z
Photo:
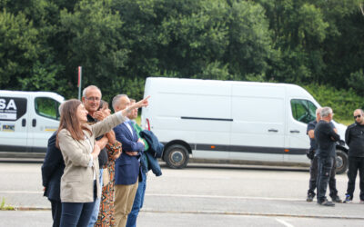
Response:
M307 125L316 119L317 106L307 99L290 98L287 132L287 153L285 161L307 163L306 151L309 148Z

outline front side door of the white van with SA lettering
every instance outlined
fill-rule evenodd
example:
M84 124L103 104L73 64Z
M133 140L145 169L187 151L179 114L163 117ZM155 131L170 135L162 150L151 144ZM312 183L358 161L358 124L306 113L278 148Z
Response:
M31 152L45 153L49 137L59 125L60 103L51 97L35 96L30 115L29 136Z

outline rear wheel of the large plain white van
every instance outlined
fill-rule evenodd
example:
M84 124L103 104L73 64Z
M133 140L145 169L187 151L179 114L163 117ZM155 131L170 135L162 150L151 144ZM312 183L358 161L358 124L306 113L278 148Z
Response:
M167 148L163 155L163 159L172 169L185 168L188 163L188 151L185 146L175 144Z

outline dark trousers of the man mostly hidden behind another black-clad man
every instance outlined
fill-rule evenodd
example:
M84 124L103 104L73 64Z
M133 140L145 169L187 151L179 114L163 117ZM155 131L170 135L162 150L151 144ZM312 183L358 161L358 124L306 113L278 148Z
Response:
M315 156L311 160L311 166L309 167L309 185L308 185L308 195L311 194L313 196L316 195L315 189L318 181L318 173L319 173L319 157ZM336 159L334 159L334 163L332 165L331 174L329 178L329 196L335 197L338 196L338 190L336 189Z

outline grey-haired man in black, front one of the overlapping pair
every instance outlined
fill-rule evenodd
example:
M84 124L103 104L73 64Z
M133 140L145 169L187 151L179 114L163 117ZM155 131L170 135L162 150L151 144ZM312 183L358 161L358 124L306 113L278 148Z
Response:
M334 206L333 202L329 202L326 198L326 190L329 184L330 173L335 159L335 146L339 141L339 134L335 133L329 122L332 120L332 109L323 107L321 112L321 120L315 128L315 138L318 144L316 155L319 158L319 176L318 176L318 203L325 206Z

